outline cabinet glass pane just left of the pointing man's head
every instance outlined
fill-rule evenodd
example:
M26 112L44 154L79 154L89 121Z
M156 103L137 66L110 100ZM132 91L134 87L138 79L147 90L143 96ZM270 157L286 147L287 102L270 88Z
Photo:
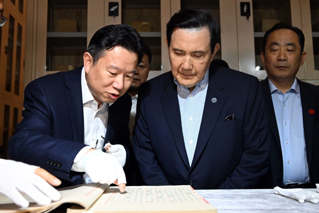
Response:
M46 71L83 65L87 37L87 0L48 0Z

